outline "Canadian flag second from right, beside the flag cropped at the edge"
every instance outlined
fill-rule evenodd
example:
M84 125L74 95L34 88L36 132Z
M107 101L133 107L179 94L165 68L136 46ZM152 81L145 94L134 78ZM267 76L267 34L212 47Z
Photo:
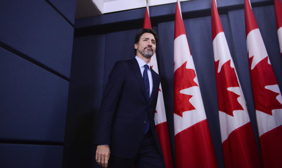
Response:
M263 166L281 167L282 96L249 0L245 0L245 22Z

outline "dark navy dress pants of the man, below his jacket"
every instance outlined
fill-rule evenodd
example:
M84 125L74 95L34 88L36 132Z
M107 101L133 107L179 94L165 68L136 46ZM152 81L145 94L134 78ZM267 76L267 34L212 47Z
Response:
M126 149L125 149L126 150ZM142 140L138 153L132 159L110 155L108 168L165 168L164 159L160 156L155 139L149 130Z

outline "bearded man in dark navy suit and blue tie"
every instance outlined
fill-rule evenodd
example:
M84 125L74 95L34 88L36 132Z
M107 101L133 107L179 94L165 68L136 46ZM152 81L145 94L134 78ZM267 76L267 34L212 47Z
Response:
M150 68L157 34L135 37L135 58L117 61L110 72L99 117L96 162L108 168L164 168L154 114L160 76Z

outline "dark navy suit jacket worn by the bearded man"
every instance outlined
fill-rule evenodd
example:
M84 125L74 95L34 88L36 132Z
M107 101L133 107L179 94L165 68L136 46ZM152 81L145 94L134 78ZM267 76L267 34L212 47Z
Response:
M140 147L149 117L150 129L163 157L154 122L160 76L152 68L150 70L153 89L149 102L135 58L117 61L110 72L100 106L95 144L109 144L111 155L133 158Z

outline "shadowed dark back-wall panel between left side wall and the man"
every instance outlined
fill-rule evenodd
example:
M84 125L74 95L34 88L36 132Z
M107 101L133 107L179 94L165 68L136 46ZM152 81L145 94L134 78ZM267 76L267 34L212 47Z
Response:
M93 143L103 95L105 35L74 38L73 46L63 168L98 167Z

